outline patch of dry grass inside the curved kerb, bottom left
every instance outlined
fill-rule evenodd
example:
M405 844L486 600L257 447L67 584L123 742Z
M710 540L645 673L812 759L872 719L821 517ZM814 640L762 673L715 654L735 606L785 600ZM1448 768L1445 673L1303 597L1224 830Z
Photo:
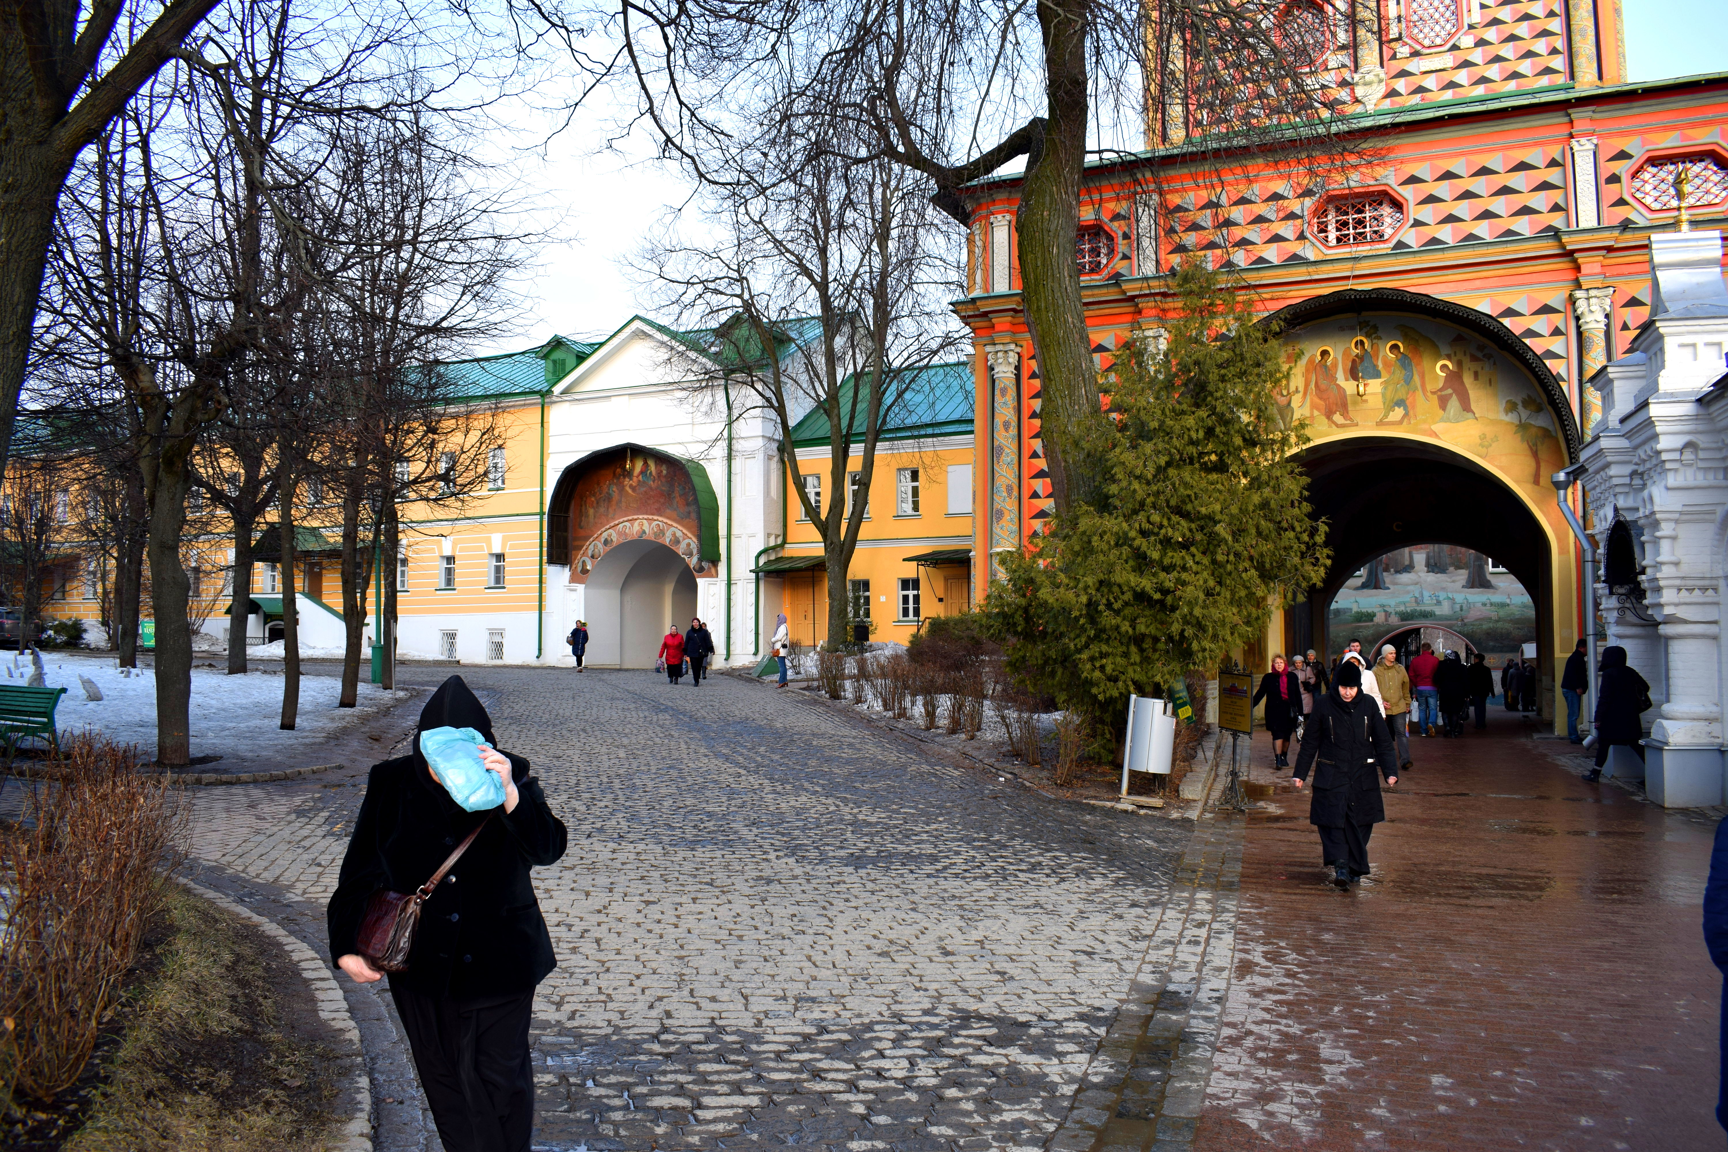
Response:
M337 1090L330 1050L278 988L299 971L268 938L173 888L164 940L90 1117L64 1152L313 1152ZM309 1005L302 1010L309 1017Z

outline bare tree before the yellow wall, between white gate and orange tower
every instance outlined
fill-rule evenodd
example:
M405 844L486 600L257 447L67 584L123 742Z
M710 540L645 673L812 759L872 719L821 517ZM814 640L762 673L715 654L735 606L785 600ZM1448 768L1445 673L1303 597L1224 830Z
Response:
M719 385L741 397L727 401L731 416L766 415L793 475L793 425L812 409L826 418L826 477L791 494L823 541L829 642L847 639L847 572L885 421L919 402L919 370L961 337L947 309L954 264L930 242L923 181L881 157L852 159L850 143L845 126L781 121L702 157L733 173L712 197L719 240L667 245L651 261L686 323L714 330L707 402Z

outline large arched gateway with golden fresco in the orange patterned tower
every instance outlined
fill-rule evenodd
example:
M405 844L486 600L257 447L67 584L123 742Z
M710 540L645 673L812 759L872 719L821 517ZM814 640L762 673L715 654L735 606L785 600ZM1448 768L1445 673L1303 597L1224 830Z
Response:
M1491 316L1414 292L1332 292L1263 323L1280 333L1277 411L1306 421L1299 461L1332 549L1325 579L1277 613L1265 646L1331 660L1350 639L1367 648L1433 620L1498 653L1517 632L1536 642L1541 715L1553 717L1555 655L1579 630L1578 548L1552 485L1578 453L1566 387Z

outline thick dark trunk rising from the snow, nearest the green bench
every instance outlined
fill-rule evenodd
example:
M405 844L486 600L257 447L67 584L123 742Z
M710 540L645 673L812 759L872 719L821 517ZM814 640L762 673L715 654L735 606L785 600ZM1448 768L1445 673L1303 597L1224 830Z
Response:
M180 563L192 473L181 454L162 453L150 501L150 611L156 615L156 763L183 769L192 758L192 582Z

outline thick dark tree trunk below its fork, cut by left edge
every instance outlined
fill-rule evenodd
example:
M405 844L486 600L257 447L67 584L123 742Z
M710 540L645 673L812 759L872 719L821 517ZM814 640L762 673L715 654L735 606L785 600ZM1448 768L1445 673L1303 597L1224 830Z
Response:
M9 76L9 104L16 104L10 90L17 86L28 92L29 81ZM0 130L0 475L5 475L17 394L29 363L54 211L71 171L71 157L62 161L47 147L17 138L29 130L16 123L16 111L5 121Z

